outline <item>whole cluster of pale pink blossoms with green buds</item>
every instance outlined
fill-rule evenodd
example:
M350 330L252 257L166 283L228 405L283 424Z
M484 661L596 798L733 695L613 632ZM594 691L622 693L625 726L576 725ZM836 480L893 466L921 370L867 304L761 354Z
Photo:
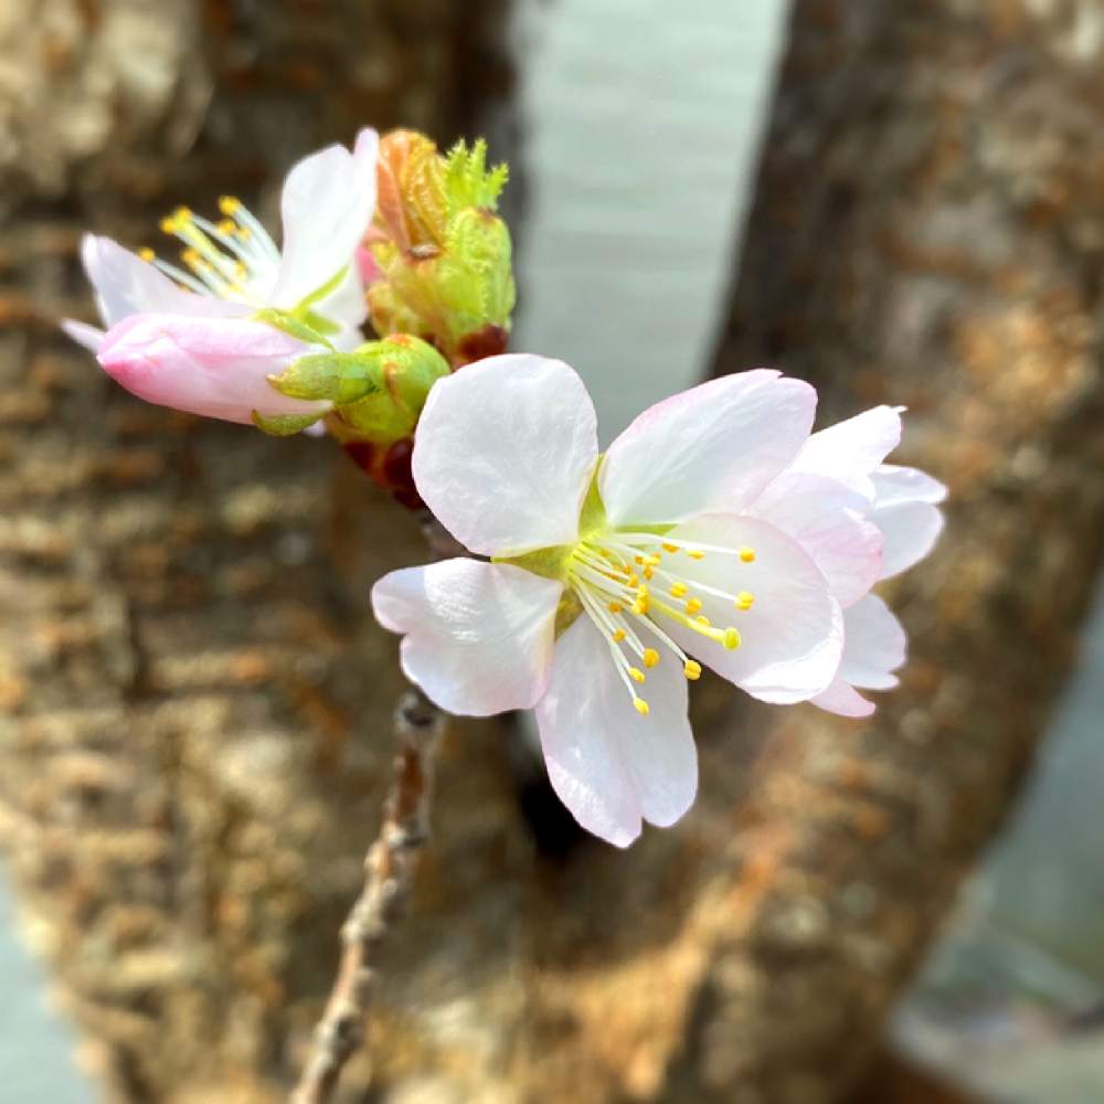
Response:
M473 558L375 584L403 669L453 713L533 709L561 799L625 846L693 800L703 667L762 701L873 712L859 691L896 684L905 636L871 588L931 551L945 489L884 463L898 410L813 433L814 389L766 370L659 403L599 453L571 368L487 355L513 306L505 181L481 144L446 158L365 130L291 170L283 253L230 199L217 223L166 220L184 268L86 238L107 329L65 326L149 402L321 422L384 482L405 446L414 500Z

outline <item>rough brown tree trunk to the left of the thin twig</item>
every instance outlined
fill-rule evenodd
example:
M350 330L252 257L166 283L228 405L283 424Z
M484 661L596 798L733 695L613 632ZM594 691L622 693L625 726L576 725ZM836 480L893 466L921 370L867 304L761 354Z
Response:
M417 529L328 443L130 399L56 319L83 229L262 187L270 223L359 126L469 130L506 4L0 7L0 838L113 1100L280 1100L394 750L368 590Z

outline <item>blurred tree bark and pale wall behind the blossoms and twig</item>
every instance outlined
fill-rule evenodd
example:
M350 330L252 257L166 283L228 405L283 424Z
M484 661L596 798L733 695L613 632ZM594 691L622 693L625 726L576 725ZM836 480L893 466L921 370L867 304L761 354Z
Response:
M1097 0L4 0L0 1100L259 1104L301 1062L392 747L367 591L418 535L54 320L82 230L270 221L363 124L509 159L512 346L607 439L769 363L828 420L906 404L953 500L878 718L703 682L702 797L625 854L457 725L341 1098L1104 1098L1102 63Z

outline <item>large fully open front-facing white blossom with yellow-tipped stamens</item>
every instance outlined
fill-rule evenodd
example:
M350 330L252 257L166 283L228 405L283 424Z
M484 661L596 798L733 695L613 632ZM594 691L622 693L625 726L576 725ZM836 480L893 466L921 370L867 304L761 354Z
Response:
M798 457L815 407L777 372L730 375L647 411L599 456L594 407L560 361L493 357L442 380L414 479L490 561L376 583L406 675L453 713L533 708L551 783L590 831L626 846L641 820L678 820L697 788L687 682L702 665L777 703L824 693L840 667L825 572L747 512ZM859 534L838 553L861 561L852 590L869 585L880 546Z

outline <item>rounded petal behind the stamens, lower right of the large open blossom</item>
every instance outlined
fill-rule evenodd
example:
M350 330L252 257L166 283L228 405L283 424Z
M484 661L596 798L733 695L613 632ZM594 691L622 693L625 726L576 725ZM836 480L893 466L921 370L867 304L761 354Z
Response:
M828 687L839 669L843 615L820 569L797 541L765 521L720 514L687 522L670 535L755 553L752 563L719 552L700 561L684 553L672 558L672 570L691 587L697 581L729 594L746 591L754 598L744 611L700 594L701 614L712 626L740 631L742 644L732 651L660 616L658 623L686 651L763 701L805 701Z

